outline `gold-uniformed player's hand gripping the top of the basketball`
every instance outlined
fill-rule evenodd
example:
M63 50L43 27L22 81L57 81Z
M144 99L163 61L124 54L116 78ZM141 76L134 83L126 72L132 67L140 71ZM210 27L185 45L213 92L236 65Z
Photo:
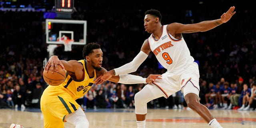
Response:
M52 73L54 72L54 67L56 67L56 72L58 72L58 64L60 64L60 66L62 67L62 69L64 69L64 66L62 64L62 62L60 62L58 56L51 56L47 62L47 64L44 67L44 70L46 70L46 72L48 72L49 68L52 68Z

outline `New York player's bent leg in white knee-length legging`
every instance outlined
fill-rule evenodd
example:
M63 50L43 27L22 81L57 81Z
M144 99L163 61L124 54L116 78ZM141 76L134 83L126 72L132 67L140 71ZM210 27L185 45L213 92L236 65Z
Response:
M147 103L161 96L164 96L164 93L158 87L150 84L135 94L135 114L138 128L146 128Z

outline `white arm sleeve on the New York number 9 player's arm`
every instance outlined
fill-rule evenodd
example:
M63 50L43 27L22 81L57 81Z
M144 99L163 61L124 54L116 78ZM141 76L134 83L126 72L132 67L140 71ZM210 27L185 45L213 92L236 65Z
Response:
M140 51L139 54L130 62L127 64L124 64L123 66L119 68L115 68L116 75L121 75L121 74L129 74L131 72L135 72L140 64L146 60L148 57L148 54L145 52Z

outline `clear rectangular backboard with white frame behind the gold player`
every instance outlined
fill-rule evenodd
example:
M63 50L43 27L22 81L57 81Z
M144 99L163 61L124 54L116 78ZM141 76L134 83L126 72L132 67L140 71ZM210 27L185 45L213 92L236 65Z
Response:
M46 19L46 43L64 44L63 40L73 40L72 44L86 44L86 20Z

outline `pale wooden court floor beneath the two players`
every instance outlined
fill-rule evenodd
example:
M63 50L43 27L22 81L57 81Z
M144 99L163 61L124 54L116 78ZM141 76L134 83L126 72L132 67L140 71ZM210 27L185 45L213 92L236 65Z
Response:
M256 128L256 111L210 110L224 128ZM137 128L134 109L87 109L90 128ZM210 128L192 110L148 109L147 128ZM43 128L40 109L0 109L0 128L9 128L11 123L25 128ZM75 128L65 123L65 128Z

